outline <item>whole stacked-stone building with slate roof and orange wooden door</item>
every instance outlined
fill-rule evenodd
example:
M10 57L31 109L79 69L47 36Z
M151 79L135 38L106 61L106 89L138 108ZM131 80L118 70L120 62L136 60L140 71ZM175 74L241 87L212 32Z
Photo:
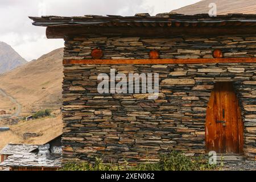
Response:
M256 15L30 18L65 40L63 162L154 162L170 150L255 160ZM158 98L99 93L112 70L158 73Z

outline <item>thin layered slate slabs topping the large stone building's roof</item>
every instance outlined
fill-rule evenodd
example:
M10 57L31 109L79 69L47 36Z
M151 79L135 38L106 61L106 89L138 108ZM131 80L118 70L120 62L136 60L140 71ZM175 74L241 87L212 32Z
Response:
M183 15L147 13L135 16L85 15L30 17L35 26L89 26L89 27L204 27L204 26L256 26L255 14L227 14L210 17L208 14Z

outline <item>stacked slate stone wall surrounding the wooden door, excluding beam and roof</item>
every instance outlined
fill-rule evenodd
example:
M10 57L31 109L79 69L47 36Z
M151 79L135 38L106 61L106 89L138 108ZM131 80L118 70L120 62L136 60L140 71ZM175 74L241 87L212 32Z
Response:
M152 49L159 50L161 59L212 58L216 48L224 57L255 57L256 36L152 39L88 35L66 38L64 59L92 59L94 48L102 49L102 59L148 59ZM110 69L125 74L159 73L159 98L98 93L97 76L110 74ZM233 82L244 122L244 155L255 159L256 63L64 65L64 162L83 162L94 156L119 163L123 159L154 162L170 150L204 154L210 92L221 81Z

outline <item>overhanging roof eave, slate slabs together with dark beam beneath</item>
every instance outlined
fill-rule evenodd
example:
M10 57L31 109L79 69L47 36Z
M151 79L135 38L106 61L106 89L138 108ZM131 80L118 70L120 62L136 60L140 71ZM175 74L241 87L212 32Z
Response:
M30 16L35 26L47 27L47 38L86 34L121 36L256 34L256 15Z

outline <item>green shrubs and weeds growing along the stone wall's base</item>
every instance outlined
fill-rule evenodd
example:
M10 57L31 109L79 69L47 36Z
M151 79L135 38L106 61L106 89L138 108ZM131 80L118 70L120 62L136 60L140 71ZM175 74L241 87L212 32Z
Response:
M160 155L159 159L159 163L147 162L127 168L118 164L104 164L100 158L96 158L94 163L66 164L61 171L205 171L217 168L208 164L204 156L189 157L177 151Z

